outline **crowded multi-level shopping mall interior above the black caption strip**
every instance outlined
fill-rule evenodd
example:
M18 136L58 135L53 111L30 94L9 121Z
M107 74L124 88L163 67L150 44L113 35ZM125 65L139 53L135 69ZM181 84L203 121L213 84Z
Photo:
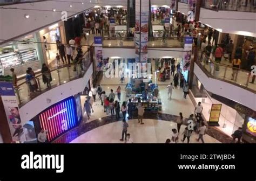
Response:
M249 0L0 1L0 143L256 143L255 24Z

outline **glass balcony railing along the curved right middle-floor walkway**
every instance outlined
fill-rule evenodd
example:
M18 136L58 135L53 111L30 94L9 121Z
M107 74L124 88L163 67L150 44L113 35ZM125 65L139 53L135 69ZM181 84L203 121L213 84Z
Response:
M253 78L251 72L224 64L218 64L202 52L198 53L196 63L207 75L256 93L256 85L254 83L250 83Z

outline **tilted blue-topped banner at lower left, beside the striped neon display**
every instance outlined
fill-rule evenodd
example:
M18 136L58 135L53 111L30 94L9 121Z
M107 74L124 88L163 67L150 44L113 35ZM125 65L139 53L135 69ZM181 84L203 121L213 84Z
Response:
M0 95L2 96L4 110L12 136L12 141L24 142L25 135L22 127L21 116L19 114L18 102L15 96L14 86L12 85L12 82L0 82Z

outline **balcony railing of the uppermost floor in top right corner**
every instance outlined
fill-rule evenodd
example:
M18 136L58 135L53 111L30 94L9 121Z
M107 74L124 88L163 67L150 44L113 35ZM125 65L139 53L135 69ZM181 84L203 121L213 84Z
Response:
M246 11L256 12L256 2L247 0L205 0L202 7L215 11Z

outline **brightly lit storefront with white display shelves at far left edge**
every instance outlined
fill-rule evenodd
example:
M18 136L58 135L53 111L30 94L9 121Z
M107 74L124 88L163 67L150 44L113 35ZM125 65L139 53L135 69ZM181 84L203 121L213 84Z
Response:
M15 68L17 76L25 75L28 67L33 71L41 69L44 57L41 45L35 43L37 41L40 41L39 33L33 33L0 47L0 64L4 75L11 75L11 68Z

